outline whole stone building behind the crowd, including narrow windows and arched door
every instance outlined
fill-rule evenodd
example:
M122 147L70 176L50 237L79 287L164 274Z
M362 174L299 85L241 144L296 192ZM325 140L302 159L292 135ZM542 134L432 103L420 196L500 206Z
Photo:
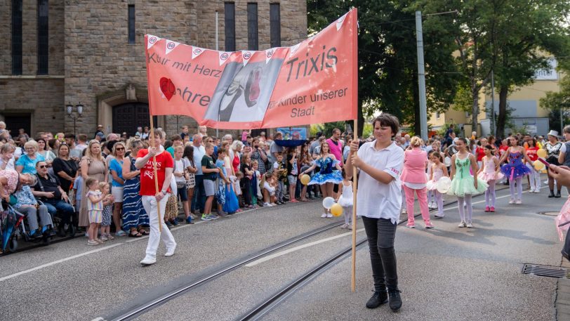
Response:
M105 133L132 135L148 125L145 34L224 51L291 46L307 36L303 0L0 3L0 118L13 134L24 128L91 136L101 124ZM74 106L75 121L66 105ZM197 126L175 116L156 124L168 133Z

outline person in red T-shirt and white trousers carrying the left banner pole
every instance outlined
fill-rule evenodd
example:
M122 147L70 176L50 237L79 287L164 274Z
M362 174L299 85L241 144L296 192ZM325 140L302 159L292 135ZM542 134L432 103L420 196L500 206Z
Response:
M166 202L168 196L172 192L170 188L172 171L174 162L169 152L166 152L161 146L161 140L165 137L164 131L154 130L154 148L139 150L136 155L137 160L135 167L140 169L140 195L143 201L143 207L150 219L150 236L148 239L146 256L140 264L148 266L157 261L157 249L159 241L162 240L166 245L166 254L164 256L173 256L176 249L176 242L164 220L158 216L158 206L160 205L160 214L164 215L166 210ZM151 144L152 146L152 144ZM154 185L154 167L153 156L157 159L157 178L159 182L159 190L157 192ZM159 224L162 224L162 233L159 232Z

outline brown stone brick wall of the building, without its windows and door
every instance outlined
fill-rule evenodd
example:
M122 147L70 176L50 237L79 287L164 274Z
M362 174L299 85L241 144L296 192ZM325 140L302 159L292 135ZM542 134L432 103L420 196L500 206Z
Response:
M66 103L81 102L84 114L77 132L91 136L97 124L112 130L112 107L121 103L147 103L144 35L156 34L185 44L224 50L224 1L221 0L53 0L49 1L49 72L37 76L37 0L23 0L22 75L11 75L11 0L0 10L3 39L0 48L0 115L31 112L32 131L73 131ZM247 4L234 1L236 48L247 48ZM258 1L259 49L270 47L270 3ZM135 44L128 44L128 5L135 6ZM281 1L281 46L306 37L306 1ZM126 87L135 88L135 98ZM48 120L48 121L46 121ZM178 131L176 117L159 117L168 133ZM179 126L196 127L188 117ZM9 126L9 124L8 124ZM211 130L215 133L215 130ZM221 134L221 133L220 133Z

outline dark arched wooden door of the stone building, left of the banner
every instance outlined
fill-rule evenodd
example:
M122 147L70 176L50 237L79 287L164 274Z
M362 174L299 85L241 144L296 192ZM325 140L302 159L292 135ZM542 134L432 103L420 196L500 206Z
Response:
M154 116L154 126L157 126L157 117ZM113 107L113 132L135 135L137 127L150 126L148 104L126 103Z

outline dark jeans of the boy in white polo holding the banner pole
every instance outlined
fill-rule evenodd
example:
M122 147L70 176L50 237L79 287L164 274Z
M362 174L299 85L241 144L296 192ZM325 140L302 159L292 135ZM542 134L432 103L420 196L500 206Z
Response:
M370 248L374 291L385 291L386 287L397 290L398 273L394 251L396 224L392 224L389 219L366 216L362 216L362 222Z

